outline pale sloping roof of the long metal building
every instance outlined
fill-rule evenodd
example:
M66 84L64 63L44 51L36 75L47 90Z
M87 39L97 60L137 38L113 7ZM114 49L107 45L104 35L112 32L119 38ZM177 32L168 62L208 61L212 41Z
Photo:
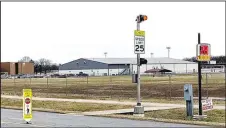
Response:
M102 62L106 64L136 64L137 59L136 58L83 58L87 60ZM195 62L190 61L184 61L180 59L173 59L173 58L167 58L167 57L161 57L161 58L145 58L148 61L148 64L159 64L159 63L165 63L165 64L196 64Z

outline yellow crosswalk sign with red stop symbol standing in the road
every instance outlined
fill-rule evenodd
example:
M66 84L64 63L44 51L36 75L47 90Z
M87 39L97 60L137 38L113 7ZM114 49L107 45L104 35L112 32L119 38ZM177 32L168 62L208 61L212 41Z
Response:
M29 123L32 119L32 90L23 89L23 118Z

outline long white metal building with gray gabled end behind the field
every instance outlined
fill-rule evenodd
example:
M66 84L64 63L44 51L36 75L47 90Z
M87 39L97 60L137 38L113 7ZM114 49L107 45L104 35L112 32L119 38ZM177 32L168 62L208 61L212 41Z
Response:
M141 66L141 74L153 68L165 68L174 73L197 72L197 63L173 58L146 58L147 65ZM60 74L83 72L93 76L126 75L136 73L136 58L80 58L60 65Z

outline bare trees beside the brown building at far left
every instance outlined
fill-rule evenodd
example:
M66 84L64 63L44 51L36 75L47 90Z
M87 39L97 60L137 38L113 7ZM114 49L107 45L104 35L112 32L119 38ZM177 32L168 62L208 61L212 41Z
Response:
M52 63L51 60L40 58L39 60L33 60L29 56L24 56L18 62L31 62L34 64L34 72L37 73L48 73L54 70L59 70L59 64Z

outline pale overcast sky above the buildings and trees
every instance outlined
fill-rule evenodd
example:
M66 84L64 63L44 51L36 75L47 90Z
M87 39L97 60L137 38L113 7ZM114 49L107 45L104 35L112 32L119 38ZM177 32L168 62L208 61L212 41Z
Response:
M195 56L197 33L212 55L225 54L224 2L2 2L2 61L23 56L66 63L78 58L136 57L135 18L145 14L146 54Z

